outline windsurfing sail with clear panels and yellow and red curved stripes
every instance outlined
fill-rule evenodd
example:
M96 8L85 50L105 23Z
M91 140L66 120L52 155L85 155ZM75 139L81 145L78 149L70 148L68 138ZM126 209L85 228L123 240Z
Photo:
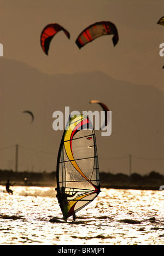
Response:
M69 116L58 151L56 181L56 197L65 220L100 192L95 131L86 115Z

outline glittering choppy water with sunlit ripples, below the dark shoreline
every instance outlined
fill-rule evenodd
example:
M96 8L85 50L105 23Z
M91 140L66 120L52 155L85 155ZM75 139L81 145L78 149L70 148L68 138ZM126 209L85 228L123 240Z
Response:
M76 222L67 223L54 188L13 190L8 195L0 186L1 245L164 244L164 190L101 189Z

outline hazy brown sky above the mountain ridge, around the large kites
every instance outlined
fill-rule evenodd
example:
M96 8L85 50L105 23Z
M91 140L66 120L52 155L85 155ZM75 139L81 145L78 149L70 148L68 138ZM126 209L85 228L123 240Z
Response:
M163 89L164 57L159 55L164 27L163 0L1 0L0 42L4 57L19 60L44 73L103 71L111 77ZM85 27L96 21L112 21L119 32L101 37L78 49L75 40ZM63 32L52 40L49 56L40 48L43 28L57 22Z

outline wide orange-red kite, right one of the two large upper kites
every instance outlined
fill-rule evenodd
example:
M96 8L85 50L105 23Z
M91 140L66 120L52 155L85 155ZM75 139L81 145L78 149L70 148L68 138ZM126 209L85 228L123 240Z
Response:
M79 49L85 44L90 43L92 40L105 36L108 34L113 34L113 44L114 46L118 43L119 36L116 26L110 21L96 22L83 30L75 43L78 45Z

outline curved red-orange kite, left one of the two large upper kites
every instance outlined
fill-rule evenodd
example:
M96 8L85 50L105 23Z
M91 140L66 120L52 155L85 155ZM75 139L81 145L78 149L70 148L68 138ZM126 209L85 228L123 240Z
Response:
M70 38L69 32L57 23L51 23L43 29L41 36L40 36L40 44L41 44L42 49L46 55L48 55L49 46L50 46L50 42L51 42L52 38L55 36L55 34L58 31L61 31L61 30L63 32L65 32L65 34L68 38Z

